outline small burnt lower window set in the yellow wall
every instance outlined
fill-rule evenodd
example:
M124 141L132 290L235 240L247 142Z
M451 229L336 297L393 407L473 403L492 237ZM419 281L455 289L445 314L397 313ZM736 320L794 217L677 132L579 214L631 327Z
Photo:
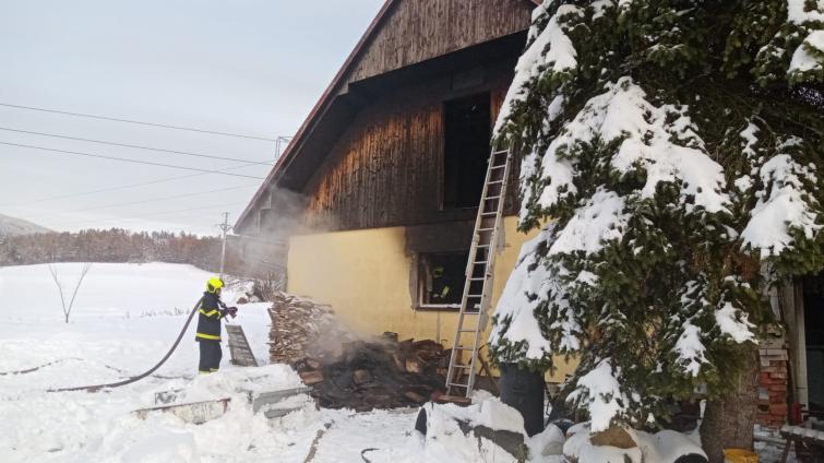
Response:
M469 252L418 254L418 307L457 309L464 293L468 259Z

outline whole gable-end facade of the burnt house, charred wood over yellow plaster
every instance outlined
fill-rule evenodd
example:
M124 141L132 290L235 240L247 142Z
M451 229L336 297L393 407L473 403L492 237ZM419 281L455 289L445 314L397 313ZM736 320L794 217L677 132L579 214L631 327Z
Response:
M236 225L287 244L289 293L363 334L452 344L492 127L537 3L384 4ZM493 305L530 238L511 170Z

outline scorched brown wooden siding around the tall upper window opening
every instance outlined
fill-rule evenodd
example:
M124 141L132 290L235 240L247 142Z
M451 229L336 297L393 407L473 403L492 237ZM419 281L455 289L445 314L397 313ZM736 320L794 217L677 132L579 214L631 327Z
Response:
M395 88L362 109L302 193L310 227L356 229L467 221L473 209L441 210L443 102L490 93L492 120L512 78L512 63L487 70L485 82L453 90L454 74ZM513 213L517 166L506 212Z

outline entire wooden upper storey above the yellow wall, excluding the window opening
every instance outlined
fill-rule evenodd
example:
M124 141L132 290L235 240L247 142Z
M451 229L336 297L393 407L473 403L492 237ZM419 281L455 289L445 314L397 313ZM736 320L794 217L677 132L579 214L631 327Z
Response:
M440 205L440 191L417 191L440 185L441 173L433 169L440 168L438 156L442 154L441 104L459 95L444 90L450 88L450 82L441 83L438 95L426 87L404 90L401 97L385 95L403 86L397 83L404 79L431 80L432 70L444 67L453 76L461 71L471 74L490 64L504 64L511 73L523 49L534 7L527 0L387 3L385 14L373 23L374 29L342 69L287 155L255 194L236 225L237 232L267 234L260 221L261 212L274 209L268 198L284 190L309 194L309 222L325 222L337 229L403 225L410 217L415 223L471 218L473 211L434 213ZM495 114L510 78L487 87L493 93ZM471 75L464 83L467 81L473 81ZM453 82L452 87L461 85ZM417 100L405 99L409 97ZM361 166L367 170L359 171ZM330 178L323 179L326 175ZM366 189L371 188L367 183L382 185L380 191L386 191L386 185L403 183L399 188L407 194L392 193L372 200L366 194ZM507 211L513 210L511 202ZM407 205L416 211L397 212Z

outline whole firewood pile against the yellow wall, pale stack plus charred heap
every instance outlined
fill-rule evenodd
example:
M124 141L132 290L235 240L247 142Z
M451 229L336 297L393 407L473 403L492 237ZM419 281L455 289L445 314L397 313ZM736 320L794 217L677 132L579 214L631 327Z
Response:
M444 392L451 351L434 341L363 341L330 306L279 292L268 313L272 363L291 365L323 407L416 406Z

